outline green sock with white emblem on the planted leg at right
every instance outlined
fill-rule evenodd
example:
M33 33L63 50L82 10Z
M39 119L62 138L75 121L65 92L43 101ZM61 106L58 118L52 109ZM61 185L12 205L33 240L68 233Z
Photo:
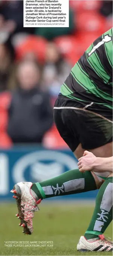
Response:
M95 210L84 236L87 240L103 234L113 219L113 177L108 177L96 197Z

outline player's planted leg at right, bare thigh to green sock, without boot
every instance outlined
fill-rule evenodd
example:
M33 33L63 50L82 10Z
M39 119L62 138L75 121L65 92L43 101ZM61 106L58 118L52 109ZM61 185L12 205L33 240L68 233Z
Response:
M107 143L106 145L89 151L97 157L111 157L113 155L113 142ZM89 227L84 234L84 237L87 240L95 239L98 237L99 234L104 233L113 219L113 174L108 174L108 172L95 172L95 175L96 177L98 177L98 175L100 175L101 177L103 176L103 178L105 178L106 176L107 179L104 181L104 184L102 184L96 197L95 210Z

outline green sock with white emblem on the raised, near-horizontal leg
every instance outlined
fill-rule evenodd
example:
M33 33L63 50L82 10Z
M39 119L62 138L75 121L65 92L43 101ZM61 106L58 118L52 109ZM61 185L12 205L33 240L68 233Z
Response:
M66 171L53 179L33 183L31 189L40 199L77 194L96 190L95 179L90 171L81 173L78 169Z

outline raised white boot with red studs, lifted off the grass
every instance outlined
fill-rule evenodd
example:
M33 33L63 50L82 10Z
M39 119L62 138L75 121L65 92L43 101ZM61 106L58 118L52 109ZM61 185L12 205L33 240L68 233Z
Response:
M24 228L23 233L25 234L33 233L32 218L34 212L39 210L38 204L41 202L41 199L31 190L32 185L32 182L18 182L11 190L17 202L18 213L16 216L20 219L19 226Z

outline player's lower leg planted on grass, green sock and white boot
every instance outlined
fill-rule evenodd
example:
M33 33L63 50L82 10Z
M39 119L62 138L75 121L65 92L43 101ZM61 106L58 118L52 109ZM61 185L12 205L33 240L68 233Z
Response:
M113 242L103 236L113 219L113 177L108 177L96 197L95 210L84 236L80 237L78 251L113 251Z

